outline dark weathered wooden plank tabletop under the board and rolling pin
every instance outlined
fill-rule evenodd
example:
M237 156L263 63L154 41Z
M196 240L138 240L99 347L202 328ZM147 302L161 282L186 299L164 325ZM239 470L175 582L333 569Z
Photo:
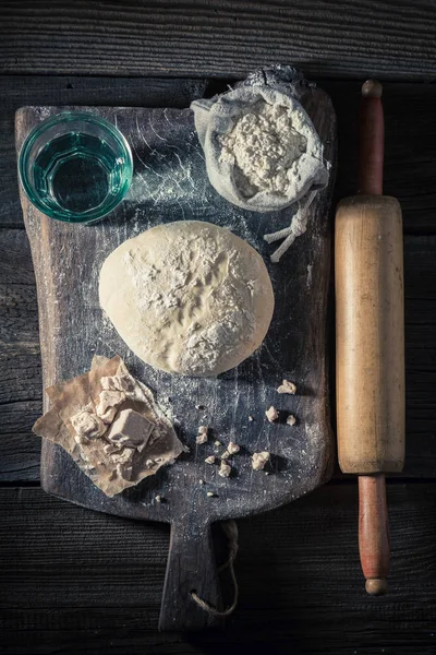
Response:
M436 653L436 15L428 1L4 2L0 8L0 652L143 655ZM17 195L26 104L186 106L272 61L331 95L336 196L355 187L360 83L385 86L385 192L404 216L407 464L388 480L390 595L365 595L356 485L339 474L239 522L241 587L225 632L156 630L169 533L39 489L35 281ZM147 78L160 78L150 80ZM162 80L161 78L166 79ZM195 79L194 81L191 81ZM213 81L210 82L210 79ZM219 528L217 539L219 541Z

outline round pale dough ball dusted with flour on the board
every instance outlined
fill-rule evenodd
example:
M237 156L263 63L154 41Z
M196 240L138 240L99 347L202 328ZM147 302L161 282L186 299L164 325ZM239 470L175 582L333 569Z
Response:
M238 366L263 342L274 310L262 257L198 221L158 225L122 243L101 267L99 297L135 355L185 376Z

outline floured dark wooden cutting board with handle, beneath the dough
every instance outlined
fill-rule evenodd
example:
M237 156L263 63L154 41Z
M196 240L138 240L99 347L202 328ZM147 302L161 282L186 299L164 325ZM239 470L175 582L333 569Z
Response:
M307 87L303 105L334 168L329 187L312 205L307 231L279 264L270 264L269 254L277 245L268 246L263 235L288 226L293 210L255 214L218 195L207 178L190 109L80 107L116 123L134 156L129 196L100 224L51 221L22 193L37 281L45 386L85 372L94 354L111 357L119 353L131 372L155 391L191 449L173 466L110 499L60 446L47 441L43 446L41 484L49 493L94 510L171 524L161 629L198 629L216 623L191 596L195 590L211 605L221 604L210 536L213 522L277 508L318 487L331 473L326 356L328 210L335 178L336 118L328 96L319 90ZM64 109L20 109L17 152L43 118ZM263 346L218 379L186 379L154 370L132 355L98 305L98 275L106 257L141 231L180 219L229 227L264 255L272 279L276 310ZM295 396L277 393L282 378L296 383ZM269 424L265 410L270 405L283 416L294 414L296 425L290 427L284 420ZM223 444L231 439L242 446L233 458L234 475L229 479L220 478L217 467L204 462L216 452L214 439L206 445L195 444L202 424L211 427L214 439ZM251 466L251 454L263 450L271 453L268 476L253 472ZM199 485L199 479L206 480L206 486ZM207 497L206 490L213 490L216 497ZM155 502L158 493L165 498L160 504Z

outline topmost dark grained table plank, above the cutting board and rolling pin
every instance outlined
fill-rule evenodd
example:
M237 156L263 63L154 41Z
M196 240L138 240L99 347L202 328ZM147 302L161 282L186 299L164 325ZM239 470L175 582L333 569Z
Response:
M434 79L434 4L310 0L2 2L4 73Z

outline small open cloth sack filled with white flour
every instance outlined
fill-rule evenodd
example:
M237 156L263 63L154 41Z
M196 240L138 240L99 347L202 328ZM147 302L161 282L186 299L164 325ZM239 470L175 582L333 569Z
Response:
M229 202L272 212L326 187L323 144L298 99L302 85L295 69L271 67L191 104L210 183Z

